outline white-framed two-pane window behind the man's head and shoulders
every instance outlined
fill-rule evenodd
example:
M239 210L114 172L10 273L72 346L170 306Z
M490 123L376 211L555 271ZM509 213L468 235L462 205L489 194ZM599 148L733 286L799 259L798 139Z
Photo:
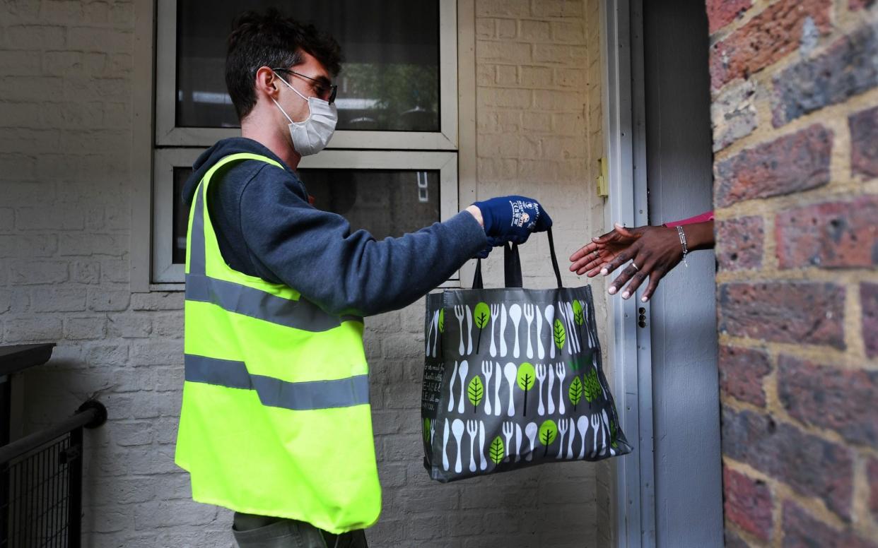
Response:
M184 281L188 211L179 196L192 162L217 140L240 135L225 84L231 22L241 11L272 5L331 33L345 57L335 136L299 165L316 207L377 238L458 210L456 2L158 0L153 284Z

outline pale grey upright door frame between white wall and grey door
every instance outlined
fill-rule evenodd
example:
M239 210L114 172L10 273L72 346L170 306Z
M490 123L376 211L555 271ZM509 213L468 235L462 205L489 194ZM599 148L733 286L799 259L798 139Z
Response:
M642 0L601 2L607 230L615 222L649 223L643 28ZM622 429L634 445L634 452L611 465L612 538L620 548L656 544L650 305L640 302L644 289L627 301L610 300L613 388ZM645 319L643 327L640 317Z

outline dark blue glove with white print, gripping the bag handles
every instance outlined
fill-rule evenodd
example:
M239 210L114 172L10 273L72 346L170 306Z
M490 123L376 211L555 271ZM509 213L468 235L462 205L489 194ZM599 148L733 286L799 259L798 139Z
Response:
M485 234L491 246L507 242L523 244L531 232L542 232L551 226L551 217L543 206L524 196L500 196L473 203L482 212Z

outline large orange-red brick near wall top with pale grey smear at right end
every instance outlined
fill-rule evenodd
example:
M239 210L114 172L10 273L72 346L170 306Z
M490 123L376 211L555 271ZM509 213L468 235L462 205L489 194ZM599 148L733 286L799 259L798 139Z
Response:
M807 19L821 33L831 30L830 0L781 0L717 42L710 52L710 85L720 89L736 78L748 78L799 46Z

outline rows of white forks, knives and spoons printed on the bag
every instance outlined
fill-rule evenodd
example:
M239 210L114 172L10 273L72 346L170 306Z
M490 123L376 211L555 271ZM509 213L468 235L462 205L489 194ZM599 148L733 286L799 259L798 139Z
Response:
M551 363L533 364L534 369L530 374L536 374L535 382L521 381L522 385L519 385L518 374L521 361L514 363L503 360L506 361L506 364L502 365L500 361L483 359L481 367L474 365L471 372L467 359L455 360L450 380L446 381L448 387L448 411L450 413L457 411L459 415L464 415L465 412L479 413L478 408L481 405L483 407L481 412L484 412L485 416L500 416L503 412L500 403L500 388L501 385L505 385L502 388L505 390L504 397L507 398L506 415L513 417L515 416L516 399L522 402L522 397L529 397L530 392L536 389L536 416L555 416L556 413L560 416L555 419L555 436L551 438L552 441L549 444L555 459L597 459L614 456L618 451L611 446L613 440L611 439L610 420L607 410L603 405L601 405L600 409L592 411L591 409L595 402L592 399L588 399L588 410L583 409L584 414L573 417L565 416L568 404L573 402L581 402L582 405L586 404L584 400L574 399L576 391L571 388L569 382L565 382L568 378L575 380L579 377L579 373L577 370L572 369L571 374L568 374L567 369L570 366L568 366L566 358L562 357L566 355L564 352L570 352L572 357L582 352L583 347L592 349L597 345L597 341L594 340L589 328L592 318L588 317L590 310L587 302L576 302L576 306L573 306L573 302L554 302L545 305L544 308L531 303L524 304L523 306L513 303L508 307L500 303L490 305L488 310L490 310L489 321L491 322L489 352L492 358L505 358L507 354L511 354L509 359L521 358L524 361L526 356L529 360L539 359L542 361L543 359L549 359ZM574 310L577 310L577 312L581 310L581 316L577 316ZM456 305L453 307L453 311L455 317L457 317L458 333L460 334L458 353L461 357L471 355L473 353L473 315L471 305ZM507 316L512 320L514 333L507 333ZM523 323L522 316L524 317ZM554 322L556 317L560 320L560 325L564 326L565 331L565 340L561 348L554 344ZM546 321L547 326L543 326L543 319ZM578 321L582 320L584 322L578 324ZM438 348L439 339L441 338L439 321L440 310L434 310L432 314L428 315L426 325L427 338L424 343L425 355L428 357L432 356L435 358L440 350ZM535 322L536 326L534 325ZM533 332L534 327L536 327L536 332ZM527 338L526 342L521 338L522 332L520 328L525 328L523 335ZM546 338L545 341L543 341L543 336ZM512 346L511 352L507 348L507 337L509 345ZM450 344L453 345L454 343L450 342ZM546 344L548 344L548 350L545 347ZM558 351L558 360L555 358L556 351ZM481 387L483 387L481 396L468 394L468 388L472 389L468 384L471 381L471 373L475 376L481 374L482 380L485 381L484 384L481 384ZM527 378L522 377L522 379ZM491 389L492 380L494 381L493 391ZM503 382L504 380L506 382ZM557 392L555 391L556 381L558 381ZM446 386L445 383L443 383L444 386ZM472 386L478 387L479 383L474 383ZM527 388L527 391L524 388ZM523 396L517 394L518 392L523 392ZM478 392L474 392L474 394L478 394ZM470 400L470 397L474 399ZM570 401L566 402L568 398L570 398ZM469 411L467 411L468 402L474 403ZM457 406L455 405L456 403ZM457 409L455 409L456 407ZM523 412L532 414L533 411L528 408L530 408L529 405L525 406ZM517 423L515 420L507 420L501 423L502 436L503 440L505 440L505 445L502 448L505 461L532 461L536 450L539 448L542 451L540 445L543 445L543 442L540 438L543 437L541 432L546 425L545 422L541 425L540 421L542 420L539 419L536 422L528 423ZM428 436L431 446L435 439L435 423L435 420L431 421L425 427L425 437ZM491 421L488 421L488 423L489 425L492 424ZM443 424L440 424L440 427L442 426ZM590 436L588 432L589 426L591 427ZM450 470L452 459L454 460L454 471L458 474L463 473L464 468L467 468L470 473L477 473L479 470L486 471L488 466L493 464L491 459L487 458L488 452L486 452L486 449L488 449L488 445L491 445L491 440L496 438L496 436L490 430L486 432L485 421L479 420L477 417L464 417L464 420L461 418L454 418L453 420L445 418L442 430L443 469L445 471ZM450 438L454 440L454 448L449 446ZM466 457L465 443L467 441L469 442L469 460L464 462ZM499 444L500 442L497 443ZM555 452L556 444L557 452ZM578 452L575 451L574 445L579 447Z

